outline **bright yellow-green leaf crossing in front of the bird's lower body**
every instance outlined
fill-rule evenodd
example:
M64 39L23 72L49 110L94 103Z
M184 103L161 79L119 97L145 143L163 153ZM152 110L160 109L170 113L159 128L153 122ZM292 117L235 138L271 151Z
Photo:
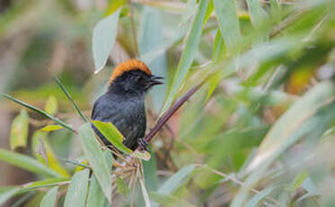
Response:
M111 122L92 121L94 126L100 130L106 139L113 144L114 147L126 154L130 154L132 150L122 144L123 135Z

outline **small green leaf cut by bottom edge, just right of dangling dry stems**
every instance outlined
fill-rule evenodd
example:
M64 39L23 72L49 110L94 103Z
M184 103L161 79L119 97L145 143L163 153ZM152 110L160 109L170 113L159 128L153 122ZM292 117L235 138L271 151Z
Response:
M154 202L162 204L163 206L183 206L183 207L195 207L195 205L182 200L181 198L173 195L166 195L161 193L150 192L150 199Z

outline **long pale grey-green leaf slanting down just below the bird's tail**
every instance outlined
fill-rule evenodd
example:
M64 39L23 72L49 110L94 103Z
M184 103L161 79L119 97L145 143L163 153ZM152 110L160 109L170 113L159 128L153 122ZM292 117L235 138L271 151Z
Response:
M79 136L82 141L84 153L90 165L93 167L93 174L97 178L107 200L111 202L111 169L103 156L100 144L95 139L91 123L85 123L79 129Z

